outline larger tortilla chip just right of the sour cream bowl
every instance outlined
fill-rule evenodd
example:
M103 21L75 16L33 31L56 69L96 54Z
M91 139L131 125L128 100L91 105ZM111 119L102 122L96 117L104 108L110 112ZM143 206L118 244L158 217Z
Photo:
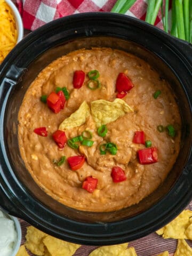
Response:
M43 238L46 236L47 234L45 234L44 232L38 230L33 226L27 227L27 235L26 235L26 243L25 243L26 248L30 252L38 256L44 255L45 248L43 244Z

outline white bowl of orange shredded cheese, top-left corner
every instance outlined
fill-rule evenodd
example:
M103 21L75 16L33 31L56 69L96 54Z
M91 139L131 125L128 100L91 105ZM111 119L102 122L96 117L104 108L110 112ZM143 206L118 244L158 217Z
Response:
M11 0L0 0L0 64L23 37L20 13Z

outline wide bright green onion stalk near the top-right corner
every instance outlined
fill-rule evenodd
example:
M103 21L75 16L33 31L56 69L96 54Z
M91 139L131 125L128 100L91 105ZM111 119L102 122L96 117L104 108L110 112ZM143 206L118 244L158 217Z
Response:
M178 38L185 40L185 26L183 19L182 0L175 0L175 13L178 28Z

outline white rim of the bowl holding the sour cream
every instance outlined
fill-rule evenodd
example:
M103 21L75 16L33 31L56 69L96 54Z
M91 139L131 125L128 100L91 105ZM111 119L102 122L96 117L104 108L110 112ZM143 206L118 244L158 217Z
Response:
M0 211L3 212L4 216L7 219L11 219L14 222L14 226L15 226L15 231L17 233L17 240L15 241L14 245L13 245L13 250L12 250L12 254L11 256L15 256L19 250L19 247L21 245L21 225L20 222L17 218L13 217L12 215L7 214L5 211L3 211L3 209L1 209L0 207ZM1 235L1 234L0 234Z

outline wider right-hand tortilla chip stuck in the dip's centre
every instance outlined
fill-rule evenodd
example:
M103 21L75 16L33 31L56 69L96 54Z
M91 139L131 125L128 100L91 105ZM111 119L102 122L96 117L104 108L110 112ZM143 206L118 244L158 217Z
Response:
M113 102L107 100L95 100L91 102L91 114L97 127L102 124L114 122L133 109L124 100L115 99Z

